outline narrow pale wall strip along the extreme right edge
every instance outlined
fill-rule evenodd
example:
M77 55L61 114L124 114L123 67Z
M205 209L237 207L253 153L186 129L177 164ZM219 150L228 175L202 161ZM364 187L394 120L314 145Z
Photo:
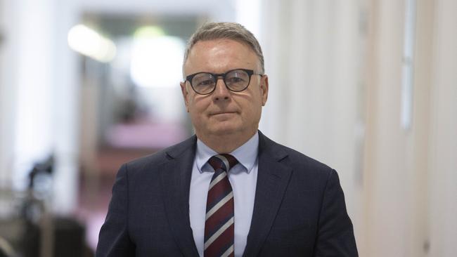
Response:
M435 2L430 108L430 256L457 253L457 1Z

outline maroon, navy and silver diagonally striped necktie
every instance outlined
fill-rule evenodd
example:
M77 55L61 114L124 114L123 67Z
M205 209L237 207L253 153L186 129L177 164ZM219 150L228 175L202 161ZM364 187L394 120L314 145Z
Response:
M233 256L233 191L227 172L238 161L230 154L217 154L208 161L214 168L206 202L205 257Z

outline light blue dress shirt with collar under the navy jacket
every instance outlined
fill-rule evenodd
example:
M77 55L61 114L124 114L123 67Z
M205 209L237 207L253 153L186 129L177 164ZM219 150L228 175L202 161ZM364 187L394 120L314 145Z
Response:
M257 153L259 152L259 134L229 154L238 159L238 164L228 172L235 203L235 256L243 256L249 232L252 210L254 209L255 187L257 185ZM205 237L205 213L208 187L214 169L208 160L217 154L202 141L197 140L197 150L193 161L191 190L189 194L189 216L193 239L200 256L203 256Z

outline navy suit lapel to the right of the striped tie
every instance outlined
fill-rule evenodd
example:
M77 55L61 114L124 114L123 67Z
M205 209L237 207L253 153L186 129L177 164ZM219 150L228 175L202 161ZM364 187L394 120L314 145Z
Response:
M254 211L243 256L257 256L283 200L292 169L281 160L287 153L259 132L259 170Z

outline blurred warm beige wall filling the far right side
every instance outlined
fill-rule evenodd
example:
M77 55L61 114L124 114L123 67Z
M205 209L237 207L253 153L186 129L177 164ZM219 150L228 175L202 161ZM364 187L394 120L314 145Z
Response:
M457 237L456 2L417 1L413 124L401 112L404 2L373 1L362 255L453 256Z

